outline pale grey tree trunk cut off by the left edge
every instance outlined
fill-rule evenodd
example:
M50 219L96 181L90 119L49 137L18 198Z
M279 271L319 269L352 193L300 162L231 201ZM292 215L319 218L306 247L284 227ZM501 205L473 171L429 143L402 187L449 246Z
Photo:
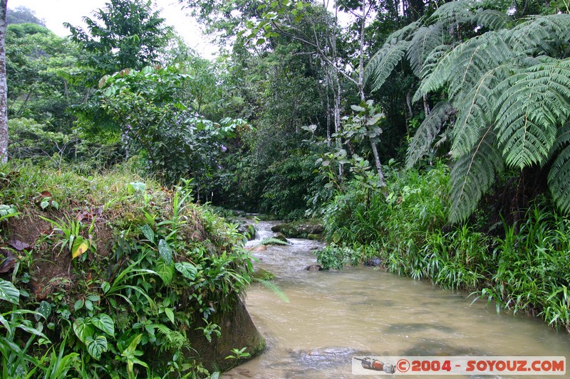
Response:
M0 0L0 161L8 161L8 87L6 86L6 8Z

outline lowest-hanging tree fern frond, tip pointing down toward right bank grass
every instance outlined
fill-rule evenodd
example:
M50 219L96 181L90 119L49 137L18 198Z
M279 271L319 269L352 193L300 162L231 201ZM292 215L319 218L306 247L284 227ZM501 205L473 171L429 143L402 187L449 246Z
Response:
M451 223L465 220L475 210L483 193L491 187L495 173L504 169L495 138L492 126L484 129L470 154L461 156L453 164L450 173Z

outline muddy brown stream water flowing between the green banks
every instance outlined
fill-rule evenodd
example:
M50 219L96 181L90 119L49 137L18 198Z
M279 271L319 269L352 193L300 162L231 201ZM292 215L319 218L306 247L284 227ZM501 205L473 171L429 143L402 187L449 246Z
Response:
M272 225L259 223L258 240L248 244L272 236ZM497 314L484 301L471 305L467 294L372 267L307 271L316 264L314 249L323 245L290 241L293 245L253 253L256 265L276 275L289 303L261 285L248 289L247 309L267 348L223 378L357 378L351 373L353 356L570 357L570 336L539 319Z

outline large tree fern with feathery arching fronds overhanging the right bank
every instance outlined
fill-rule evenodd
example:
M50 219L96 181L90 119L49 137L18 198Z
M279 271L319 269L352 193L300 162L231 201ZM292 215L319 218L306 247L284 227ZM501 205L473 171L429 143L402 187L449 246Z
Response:
M406 56L421 80L413 100L444 90L457 112L450 134L452 221L472 213L505 164L522 169L553 161L549 186L570 212L570 193L564 191L570 183L570 132L561 132L570 119L570 15L535 16L510 29L509 21L480 2L452 1L396 35L400 46L410 41ZM480 35L460 41L455 35L462 28ZM369 66L383 63L371 60ZM368 68L382 73L373 88L382 87L393 67ZM429 151L437 133L446 132L446 114L436 106L420 125L408 165Z

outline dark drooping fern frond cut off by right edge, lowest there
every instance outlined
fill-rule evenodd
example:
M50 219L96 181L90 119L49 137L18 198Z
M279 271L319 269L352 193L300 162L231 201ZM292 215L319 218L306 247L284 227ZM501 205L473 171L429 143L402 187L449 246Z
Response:
M570 122L559 129L554 149L561 148L548 173L548 185L556 205L564 213L570 213Z

